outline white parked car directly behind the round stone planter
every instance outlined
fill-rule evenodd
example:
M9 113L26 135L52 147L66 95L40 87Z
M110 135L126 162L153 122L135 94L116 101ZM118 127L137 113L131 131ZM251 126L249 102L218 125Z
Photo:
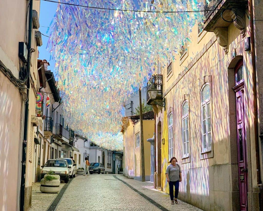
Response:
M68 183L71 166L68 165L66 160L49 159L46 164L41 167L41 179L44 178L45 174L52 170L55 174L60 176L60 180L64 180L65 183Z

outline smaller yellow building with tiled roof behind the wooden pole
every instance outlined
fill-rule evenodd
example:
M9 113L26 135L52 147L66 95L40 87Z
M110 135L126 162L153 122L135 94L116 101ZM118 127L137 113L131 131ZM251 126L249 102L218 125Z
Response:
M141 146L139 115L124 117L121 132L123 133L123 175L141 181ZM143 143L145 180L150 181L151 152L147 139L154 134L153 111L143 114Z

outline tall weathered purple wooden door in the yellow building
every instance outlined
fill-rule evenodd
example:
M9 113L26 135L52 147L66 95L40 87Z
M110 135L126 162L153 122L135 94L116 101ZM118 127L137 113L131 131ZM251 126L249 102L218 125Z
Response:
M237 134L237 161L240 210L247 211L247 157L246 157L246 128L244 116L244 76L243 65L235 68L236 86L233 88L236 95L236 134Z

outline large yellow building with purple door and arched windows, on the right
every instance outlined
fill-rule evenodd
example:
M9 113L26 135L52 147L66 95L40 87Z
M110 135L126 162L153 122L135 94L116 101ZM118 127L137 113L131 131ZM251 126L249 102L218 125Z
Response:
M161 82L165 109L148 96L156 114L156 188L169 193L165 170L175 156L179 199L207 211L260 209L256 73L246 49L251 27L246 16L238 21L243 28L214 12L196 23L191 42L152 76Z

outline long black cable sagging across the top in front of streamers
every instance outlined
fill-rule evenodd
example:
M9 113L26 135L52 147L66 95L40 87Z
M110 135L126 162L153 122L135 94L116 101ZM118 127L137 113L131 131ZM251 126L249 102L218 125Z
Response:
M53 0L37 0L37 1L46 1L46 2L53 2L58 4L66 4L70 6L77 6L77 7L85 7L85 8L92 8L92 9L104 9L104 10L114 10L114 11L125 11L125 12L146 12L146 13L192 13L192 12L208 12L208 11L215 11L220 9L211 9L211 10L193 10L193 11L143 11L143 10L132 10L132 9L115 9L115 8L104 8L104 7L91 7L85 6L80 4L71 4L65 2L58 2Z

